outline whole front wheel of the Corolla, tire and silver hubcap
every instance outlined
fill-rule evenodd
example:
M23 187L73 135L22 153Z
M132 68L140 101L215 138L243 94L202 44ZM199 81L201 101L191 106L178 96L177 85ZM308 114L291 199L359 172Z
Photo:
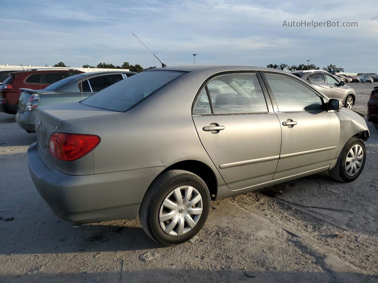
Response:
M335 180L351 182L358 178L365 166L366 147L363 140L352 137L340 152L335 167L329 174Z

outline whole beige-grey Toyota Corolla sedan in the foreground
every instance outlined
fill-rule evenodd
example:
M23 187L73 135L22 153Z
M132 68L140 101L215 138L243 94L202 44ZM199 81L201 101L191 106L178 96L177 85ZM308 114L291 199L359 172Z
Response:
M288 72L190 65L133 75L37 109L31 177L60 218L139 216L161 245L189 240L210 201L329 171L358 178L363 118Z

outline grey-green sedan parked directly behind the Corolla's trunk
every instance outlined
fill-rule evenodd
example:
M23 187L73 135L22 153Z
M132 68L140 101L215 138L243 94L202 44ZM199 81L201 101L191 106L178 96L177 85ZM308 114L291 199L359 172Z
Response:
M27 132L35 132L36 109L42 105L80 101L136 72L101 71L73 75L44 89L21 88L16 122Z

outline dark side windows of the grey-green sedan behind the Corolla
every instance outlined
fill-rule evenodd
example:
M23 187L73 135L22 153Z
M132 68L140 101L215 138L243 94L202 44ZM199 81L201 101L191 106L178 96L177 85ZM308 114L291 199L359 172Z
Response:
M123 80L125 76L123 74L104 74L96 75L94 77L83 80L81 84L81 93L87 98L96 92L102 91L104 88L111 86L119 81Z

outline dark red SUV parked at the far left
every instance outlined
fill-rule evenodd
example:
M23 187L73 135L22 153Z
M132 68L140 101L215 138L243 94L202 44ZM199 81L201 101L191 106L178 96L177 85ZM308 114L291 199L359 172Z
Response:
M62 78L84 73L76 69L39 69L11 72L0 85L0 111L16 114L19 109L20 88L43 89Z

